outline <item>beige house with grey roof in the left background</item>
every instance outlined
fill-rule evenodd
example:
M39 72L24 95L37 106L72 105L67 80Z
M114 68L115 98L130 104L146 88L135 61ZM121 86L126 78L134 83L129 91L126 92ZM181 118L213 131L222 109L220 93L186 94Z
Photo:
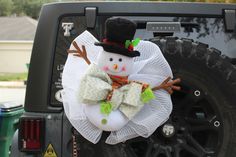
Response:
M0 17L0 73L27 72L37 21L27 17Z

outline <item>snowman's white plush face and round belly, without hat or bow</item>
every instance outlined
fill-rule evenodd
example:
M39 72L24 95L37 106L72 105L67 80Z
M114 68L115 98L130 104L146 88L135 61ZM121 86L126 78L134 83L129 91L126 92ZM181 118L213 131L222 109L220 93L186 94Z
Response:
M133 58L116 53L100 52L97 59L97 66L108 75L115 77L128 77L133 71ZM85 104L85 114L89 121L104 131L116 131L124 127L129 119L119 110L112 110L109 115L101 113L100 104ZM106 123L102 123L103 120Z

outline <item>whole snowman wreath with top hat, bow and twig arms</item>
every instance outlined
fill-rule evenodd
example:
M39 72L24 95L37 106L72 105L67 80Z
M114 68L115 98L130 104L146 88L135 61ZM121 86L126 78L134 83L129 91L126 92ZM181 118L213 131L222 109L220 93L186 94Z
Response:
M78 132L93 143L99 141L102 131L111 132L108 144L148 137L168 119L172 110L169 95L180 89L175 86L180 79L170 81L172 72L162 54L155 53L160 51L156 45L133 39L134 22L113 17L107 19L105 27L102 42L85 31L68 50L72 56L67 59L62 77L66 115ZM146 49L151 52L145 55ZM83 63L78 63L78 58ZM149 68L155 59L162 60L161 70ZM72 68L76 65L77 72ZM71 75L76 76L71 79ZM159 98L165 99L163 106Z

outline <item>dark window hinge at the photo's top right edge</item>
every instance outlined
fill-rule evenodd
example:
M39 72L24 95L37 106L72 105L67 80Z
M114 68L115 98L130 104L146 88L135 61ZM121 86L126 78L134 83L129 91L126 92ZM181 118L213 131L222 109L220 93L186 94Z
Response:
M235 10L224 10L224 21L225 21L225 30L233 31L235 29L236 23L236 12Z

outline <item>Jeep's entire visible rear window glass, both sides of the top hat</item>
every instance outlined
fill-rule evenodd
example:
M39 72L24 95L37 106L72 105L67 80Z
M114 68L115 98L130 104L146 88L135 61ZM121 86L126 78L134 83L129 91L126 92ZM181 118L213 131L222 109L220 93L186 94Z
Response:
M103 38L103 28L104 22L108 17L99 16L96 21L96 27L93 30L89 30L97 39ZM225 32L224 20L222 18L199 18L199 17L135 17L126 16L126 18L132 19L138 23L140 26L135 37L141 39L153 38L156 34L152 31L147 31L145 29L145 24L148 21L152 22L180 22L181 29L180 32L176 32L173 36L178 38L189 38L194 41L206 43L209 47L214 47L222 52L222 54L227 54L227 56L236 58L234 53L236 50L235 45L235 34L230 32ZM65 30L62 27L63 23L73 23L73 28L70 31L70 36L65 36ZM66 50L69 48L71 42L80 33L85 31L86 19L84 16L68 16L63 17L59 23L57 43L54 56L53 64L53 75L51 83L51 105L61 106L61 94L62 89L61 75L63 72L63 67L67 59Z

